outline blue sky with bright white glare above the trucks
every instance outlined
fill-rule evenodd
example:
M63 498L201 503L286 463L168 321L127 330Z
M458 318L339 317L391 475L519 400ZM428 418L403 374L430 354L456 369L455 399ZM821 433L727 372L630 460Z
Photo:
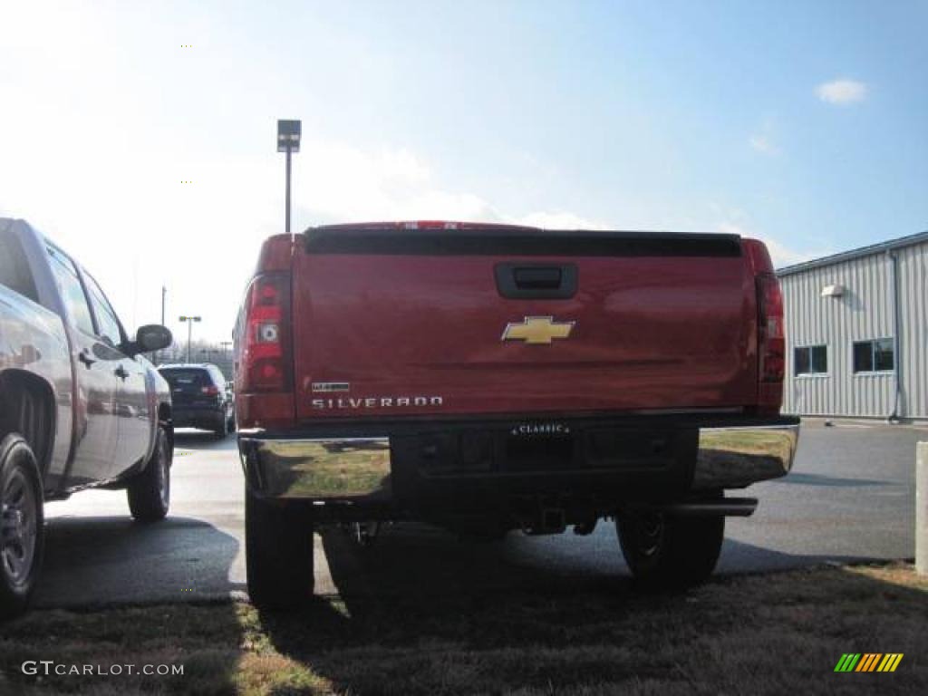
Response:
M0 214L125 324L165 283L226 339L301 118L298 229L733 231L789 264L928 229L926 27L925 2L0 0Z

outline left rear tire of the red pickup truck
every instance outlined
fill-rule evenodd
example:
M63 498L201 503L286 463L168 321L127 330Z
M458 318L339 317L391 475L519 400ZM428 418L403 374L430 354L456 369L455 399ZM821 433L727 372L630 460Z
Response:
M259 609L291 609L312 597L311 513L263 500L246 486L245 566L248 594Z

